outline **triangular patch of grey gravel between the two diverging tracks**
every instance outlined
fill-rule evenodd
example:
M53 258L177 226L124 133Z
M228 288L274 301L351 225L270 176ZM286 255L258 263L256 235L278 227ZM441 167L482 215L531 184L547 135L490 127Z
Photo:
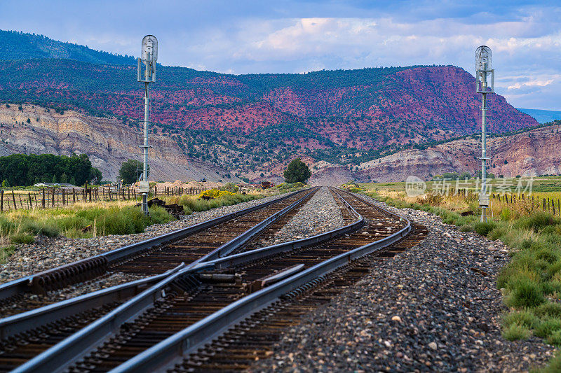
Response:
M323 187L271 239L261 239L259 246L270 246L295 239L306 239L340 228L343 216L329 189Z

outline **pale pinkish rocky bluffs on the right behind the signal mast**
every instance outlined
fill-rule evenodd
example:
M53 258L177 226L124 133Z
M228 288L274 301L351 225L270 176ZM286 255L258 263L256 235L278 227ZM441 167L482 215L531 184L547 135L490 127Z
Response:
M489 172L505 177L561 174L561 123L489 139ZM426 150L403 150L364 162L353 172L359 181L404 181L407 176L431 178L444 172L480 169L480 139L460 139Z

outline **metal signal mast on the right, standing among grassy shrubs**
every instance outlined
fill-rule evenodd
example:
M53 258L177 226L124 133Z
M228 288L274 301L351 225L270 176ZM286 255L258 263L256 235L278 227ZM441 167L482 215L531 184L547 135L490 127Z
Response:
M489 85L489 75L491 84ZM475 91L482 94L481 102L481 192L479 194L479 207L481 221L487 222L487 209L489 209L489 195L487 195L487 93L494 92L495 71L493 69L493 53L487 45L481 45L475 50Z

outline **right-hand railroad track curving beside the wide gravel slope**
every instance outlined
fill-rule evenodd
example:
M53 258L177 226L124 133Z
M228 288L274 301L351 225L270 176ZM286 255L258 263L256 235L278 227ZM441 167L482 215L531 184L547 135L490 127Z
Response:
M112 337L106 339L102 346L99 346L95 351L91 351L85 358L82 358L78 353L79 347L77 347L77 344L92 337L81 331L28 362L22 367L22 371L33 371L41 367L52 366L50 363L54 364L57 360L59 362L60 360L75 361L77 358L81 358L81 360L69 368L71 372L106 372L114 368L132 372L140 369L139 367L149 371L150 367L161 364L161 353L154 355L154 349L161 349L164 352L169 352L170 349L177 351L177 346L170 346L180 340L180 344L183 346L180 349L181 351L194 353L196 352L194 351L195 346L205 342L204 338L201 339L201 330L202 335L205 335L205 338L208 339L210 335L217 331L206 330L206 328L217 328L217 325L222 329L229 327L233 320L236 320L236 317L231 315L229 318L226 317L225 319L229 320L227 325L224 324L224 319L219 318L224 316L221 314L228 315L228 312L230 312L227 311L228 309L234 309L236 312L243 311L242 316L247 317L251 311L259 311L263 307L269 307L267 302L271 303L271 299L269 299L271 296L276 302L278 297L284 294L283 291L294 294L306 293L297 289L298 281L302 282L303 279L309 279L309 281L315 281L316 284L326 283L321 280L325 280L325 274L333 271L333 273L343 271L345 267L351 266L349 262L355 257L359 258L360 255L365 255L365 253L373 250L376 251L378 248L385 248L384 255L388 255L388 253L393 255L403 248L410 247L410 244L412 246L417 240L410 239L410 243L407 243L407 239L402 239L411 230L407 220L398 218L388 211L383 211L350 194L335 195L335 197L342 208L344 218L349 223L346 228L337 230L338 232L318 235L316 238L299 240L300 244L295 241L295 243L239 253L231 257L211 261L206 267L177 272L166 280L168 282L151 290L152 295L159 295L154 298L156 300L152 302L151 307L143 309L140 312L140 317L123 318L126 321L121 328L112 330L109 334L106 333L104 337L107 337L107 335ZM345 200L349 201L354 209ZM419 239L424 237L422 230L416 230L415 228L413 230L417 231L415 237L419 237ZM388 248L388 244L393 244L393 246ZM379 254L381 254L381 251L379 251ZM331 259L327 260L328 258ZM337 263L337 265L334 263ZM222 269L223 266L234 267ZM213 270L209 271L208 269ZM349 273L353 273L353 271ZM290 280L286 279L287 277L290 277L290 279L296 277L297 279L293 283L286 283ZM350 276L349 279L352 277ZM309 283L309 281L305 283ZM349 281L352 282L352 279ZM271 286L271 284L275 285ZM278 290L279 286L280 290ZM309 285L306 286L308 290L311 288ZM269 295L271 293L269 290L280 291L280 293ZM330 291L333 294L337 293L336 291ZM256 307L249 307L246 304L248 298L261 297L262 293L267 293L263 304ZM243 307L239 308L239 304L242 304ZM111 312L104 317L110 320ZM139 313L138 311L135 312ZM238 315L237 318L242 316ZM102 328L105 322L102 319L92 324L97 323L99 325L94 325L92 328L90 328L92 325L89 325L88 328L91 330ZM208 325L216 321L215 319L219 322L215 323L214 327L209 327ZM191 326L189 327L189 325ZM52 338L47 333L43 334L35 334L33 343L23 344L23 346L18 345L18 348L11 351L4 349L4 354L0 355L0 364L7 364L9 363L8 360L17 358L17 356L29 358L30 351L36 351L37 346L45 346L45 344L48 344L49 338ZM189 342L184 344L186 335ZM91 346L93 345L95 344ZM187 346L187 349L184 346ZM58 351L53 351L57 348ZM214 347L210 346L209 348ZM73 349L76 351L72 352ZM177 356L174 358L177 359ZM169 358L166 357L165 359L166 363L169 363ZM178 366L178 369L196 367L198 363L193 363L193 361L198 361L198 359L194 359L187 360ZM140 365L138 365L139 361ZM238 365L243 366L242 363Z

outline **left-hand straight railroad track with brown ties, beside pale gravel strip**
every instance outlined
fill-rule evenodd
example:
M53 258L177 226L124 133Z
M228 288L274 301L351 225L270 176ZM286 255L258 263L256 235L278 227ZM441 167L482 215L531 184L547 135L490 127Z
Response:
M271 223L276 223L286 214L297 213L316 191L317 189L295 192L273 202L221 216L162 237L3 284L0 286L0 309L4 316L18 314L56 302L54 297L47 297L47 293L74 283L90 286L96 281L103 282L114 274L130 280L138 279L161 274L182 262L189 264L205 258L216 258L217 255L227 253L228 248L236 249L250 243ZM269 223L266 222L268 218L271 220ZM262 227L255 229L255 225L264 222ZM245 240L233 241L242 234L245 234ZM224 246L226 244L228 245ZM217 250L221 246L224 246L222 251Z

